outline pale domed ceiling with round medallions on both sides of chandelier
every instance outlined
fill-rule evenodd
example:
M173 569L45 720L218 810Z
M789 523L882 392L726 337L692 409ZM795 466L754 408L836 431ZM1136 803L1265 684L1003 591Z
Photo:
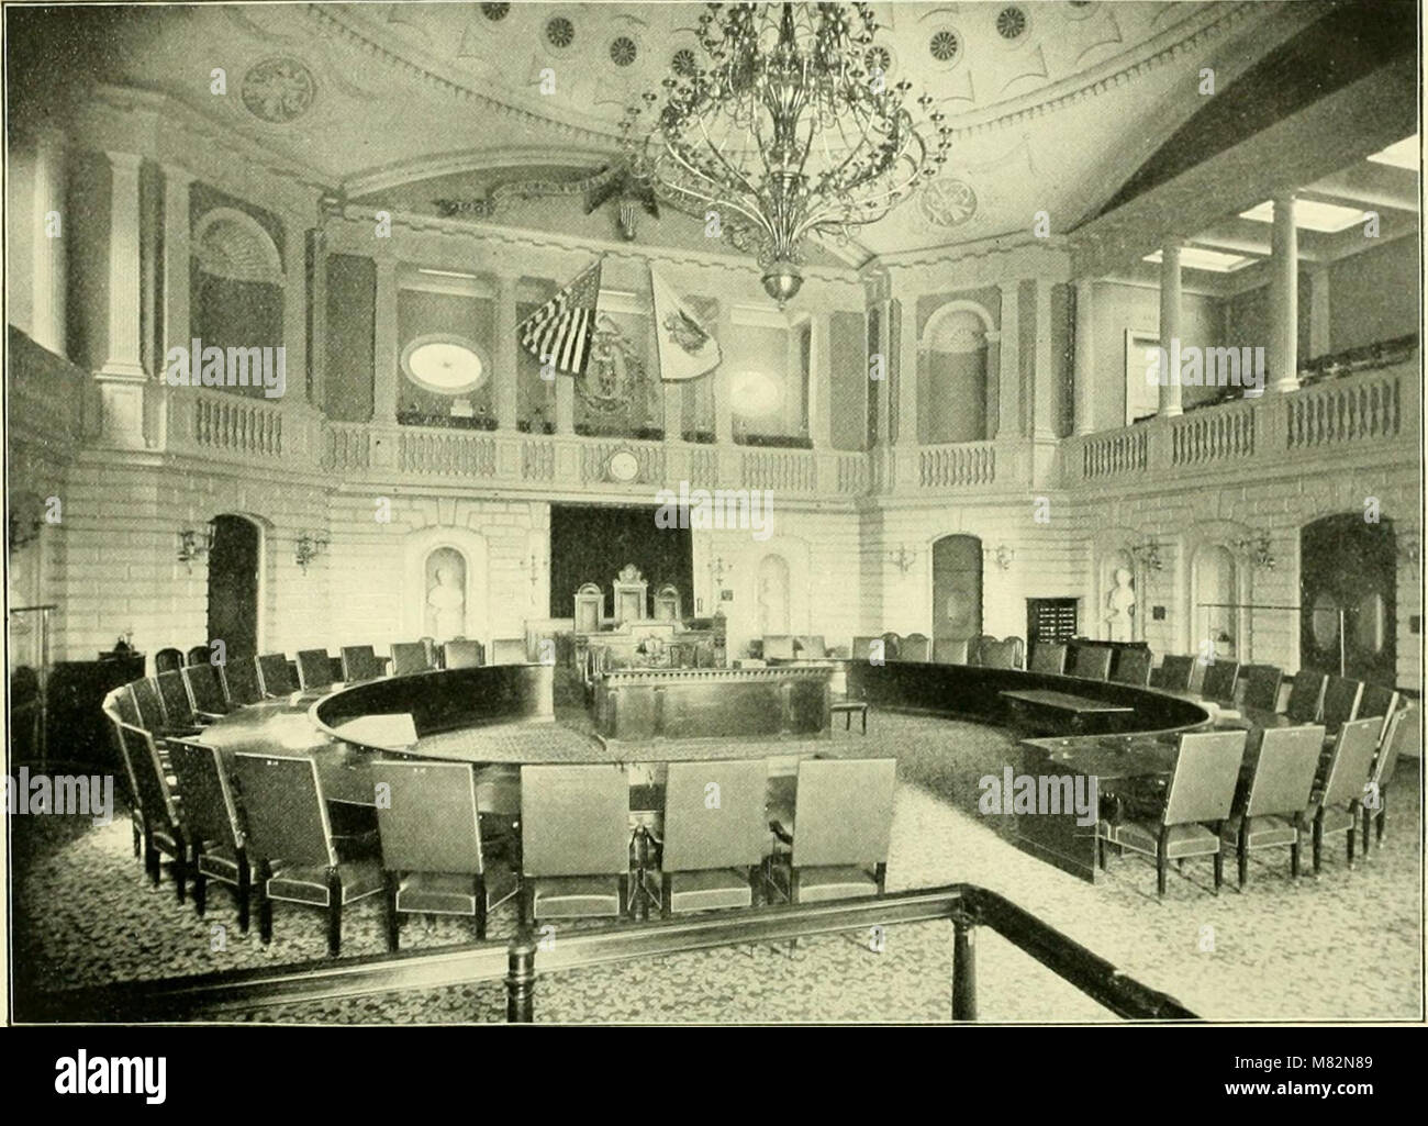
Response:
M1321 3L880 3L870 60L925 89L957 129L921 196L865 229L844 261L1025 233L1097 213L1217 81ZM441 213L574 181L617 159L627 104L697 50L703 4L203 4L134 13L120 84L167 94L298 161L348 199ZM110 31L106 31L110 34ZM227 77L213 93L213 70ZM114 79L110 79L114 80ZM544 80L544 81L543 81ZM554 89L551 89L551 81ZM543 90L544 86L544 90ZM503 221L498 209L488 219ZM504 221L611 237L577 201L521 200ZM638 237L698 239L661 209Z

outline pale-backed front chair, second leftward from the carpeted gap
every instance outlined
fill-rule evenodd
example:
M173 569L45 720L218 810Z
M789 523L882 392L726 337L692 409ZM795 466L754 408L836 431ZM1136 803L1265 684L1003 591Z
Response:
M660 855L665 917L758 903L767 800L768 763L761 759L670 763Z

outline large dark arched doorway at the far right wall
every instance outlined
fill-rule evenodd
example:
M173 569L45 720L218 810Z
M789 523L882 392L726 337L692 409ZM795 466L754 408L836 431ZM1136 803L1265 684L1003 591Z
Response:
M1355 680L1397 677L1394 522L1325 516L1299 530L1299 664Z

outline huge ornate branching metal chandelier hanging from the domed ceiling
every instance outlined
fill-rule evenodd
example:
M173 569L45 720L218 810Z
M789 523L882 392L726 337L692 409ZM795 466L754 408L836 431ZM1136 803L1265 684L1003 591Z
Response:
M708 4L697 30L705 57L678 51L664 106L647 93L625 110L635 174L701 214L707 231L718 224L751 243L780 307L803 284L807 236L847 240L947 160L951 129L925 93L914 120L912 84L887 81L877 30L865 3Z

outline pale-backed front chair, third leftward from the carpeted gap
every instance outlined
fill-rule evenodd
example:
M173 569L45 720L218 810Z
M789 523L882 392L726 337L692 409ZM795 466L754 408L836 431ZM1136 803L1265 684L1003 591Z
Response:
M630 890L623 766L523 766L521 913L527 922L620 916Z

